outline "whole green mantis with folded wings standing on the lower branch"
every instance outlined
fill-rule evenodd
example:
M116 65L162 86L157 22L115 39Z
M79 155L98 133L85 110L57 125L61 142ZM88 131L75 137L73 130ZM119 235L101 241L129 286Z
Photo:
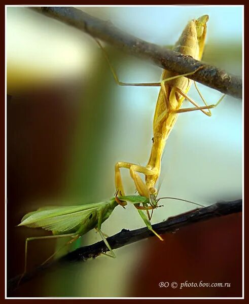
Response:
M116 197L113 197L109 200L94 203L94 204L85 204L79 206L47 206L39 208L36 211L32 211L23 216L21 223L18 226L27 226L30 228L42 228L52 232L51 236L44 237L31 237L27 238L25 242L25 265L24 273L27 270L27 249L28 242L32 240L41 240L41 239L58 239L69 237L70 240L65 243L71 244L81 236L85 235L92 229L96 229L102 238L104 244L109 249L110 254L102 252L105 255L116 257L111 246L106 240L103 232L101 231L102 223L110 217L113 210L119 205L116 201ZM161 207L158 205L159 200L168 199L168 198L159 198L156 199L155 196L151 195L150 198L146 198L139 195L132 196L123 196L119 198L123 201L128 201L135 205L141 218L144 220L148 229L152 231L158 238L163 240L152 228L150 217L148 218L143 210L154 210L155 208ZM176 199L176 198L170 198ZM186 201L182 199L177 199L180 201ZM193 203L190 201L186 201ZM193 203L195 205L201 206L199 204ZM60 248L61 249L61 248ZM59 250L60 250L59 249ZM51 255L44 263L46 263L50 258L52 258L58 251ZM22 278L22 277L21 277ZM20 279L21 280L21 279ZM20 281L19 281L20 282Z

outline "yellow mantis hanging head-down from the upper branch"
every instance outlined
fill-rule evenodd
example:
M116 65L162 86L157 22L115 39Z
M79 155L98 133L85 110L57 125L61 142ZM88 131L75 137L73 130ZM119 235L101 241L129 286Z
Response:
M183 30L179 40L174 45L173 51L192 56L194 59L200 60L202 58L205 44L207 21L208 15L201 16L196 20L191 20ZM101 47L100 43L97 43ZM103 48L101 47L101 49ZM157 189L155 187L155 184L160 175L163 149L166 143L166 139L168 138L170 131L176 122L178 114L183 112L201 110L205 115L211 116L210 108L216 107L225 97L225 95L223 95L216 104L207 105L196 84L196 89L201 99L205 103L205 106L199 106L187 95L193 81L186 78L185 76L195 73L202 67L199 67L195 71L183 75L177 75L171 71L163 70L160 83L123 83L119 81L117 74L113 69L105 51L104 55L114 74L115 81L119 85L161 87L155 109L152 139L153 143L148 164L146 166L140 166L133 163L117 162L115 165L115 186L117 201L118 198L125 195L120 169L126 168L130 171L130 176L134 181L137 192L140 196L150 198L151 206L153 209L153 207L156 207L155 197L157 196ZM181 108L185 99L191 102L194 107ZM138 173L143 173L145 175L145 182L140 178ZM121 202L120 200L119 203L122 205L126 204L125 201Z

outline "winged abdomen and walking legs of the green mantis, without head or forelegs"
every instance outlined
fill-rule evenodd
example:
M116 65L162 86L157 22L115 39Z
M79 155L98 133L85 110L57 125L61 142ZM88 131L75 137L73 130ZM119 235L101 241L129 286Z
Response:
M109 218L117 205L118 203L115 201L115 198L111 198L104 202L82 206L43 207L24 215L18 226L31 228L41 227L45 230L52 231L52 236L31 237L26 239L24 273L27 270L27 245L29 241L70 237L70 241L66 243L70 244L94 228L98 231L105 245L110 250L110 256L115 257L115 253L101 232L101 225ZM54 256L55 253L52 256Z

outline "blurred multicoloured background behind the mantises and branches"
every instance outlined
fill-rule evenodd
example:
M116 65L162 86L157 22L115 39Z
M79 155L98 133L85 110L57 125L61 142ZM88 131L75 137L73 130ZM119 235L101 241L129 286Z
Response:
M159 45L173 45L186 23L208 14L203 61L242 74L243 8L236 6L78 7ZM75 28L28 8L7 7L7 273L22 273L24 243L40 230L16 227L22 216L46 205L99 202L113 196L114 165L146 165L158 88L119 87L94 40ZM106 51L124 82L158 82L161 69ZM199 85L209 104L220 92ZM199 103L198 93L189 95ZM190 106L187 102L186 107ZM242 102L226 96L208 118L189 112L179 118L166 143L159 196L209 205L242 197ZM134 193L122 170L127 194ZM165 201L153 223L194 209ZM63 265L23 284L9 296L143 297L241 296L241 214L193 224ZM144 226L132 205L117 207L103 224L113 235ZM91 231L81 245L95 243ZM32 243L32 244L31 244ZM28 268L42 263L63 241L29 244ZM78 244L79 245L79 244ZM73 249L70 248L70 249ZM69 250L69 248L68 248ZM61 254L65 253L61 252ZM230 282L230 288L159 288L160 281Z

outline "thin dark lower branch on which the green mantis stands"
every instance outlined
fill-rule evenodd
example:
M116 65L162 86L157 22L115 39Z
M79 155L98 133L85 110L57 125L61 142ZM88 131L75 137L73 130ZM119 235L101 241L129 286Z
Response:
M229 202L218 202L202 209L195 209L187 213L170 217L165 221L162 221L158 224L154 224L153 229L159 234L172 233L194 222L200 222L210 218L220 217L241 211L242 199ZM112 237L109 237L107 240L112 249L117 249L125 245L132 244L153 236L155 237L155 235L151 231L149 231L147 227L144 227L132 231L123 229L121 232L117 233ZM85 261L88 258L95 258L101 253L107 251L109 250L105 246L103 241L97 242L89 246L81 247L79 249L67 253L66 255L62 256L57 260L39 266L32 272L26 273L20 281L19 285L30 281L32 278L37 275L40 275L41 272L44 272L46 269L58 265L58 263ZM8 281L8 292L11 292L15 288L17 288L17 284L19 282L20 277L21 276L17 276Z

